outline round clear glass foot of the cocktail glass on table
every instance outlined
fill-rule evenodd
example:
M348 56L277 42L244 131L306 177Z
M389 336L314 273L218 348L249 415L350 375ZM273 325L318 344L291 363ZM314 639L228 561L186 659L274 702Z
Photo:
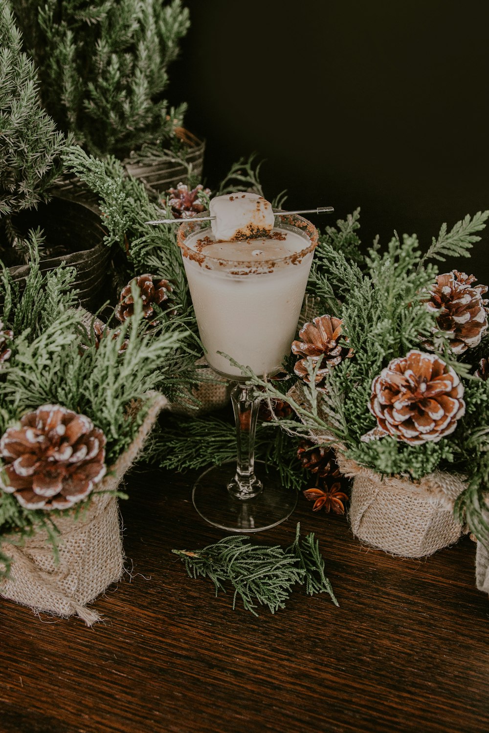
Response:
M229 461L207 469L196 480L192 500L202 519L230 532L260 532L280 524L290 517L297 493L282 486L273 474L265 474L262 461L255 461L255 471L264 488L258 496L240 501L227 490L236 472L236 463Z

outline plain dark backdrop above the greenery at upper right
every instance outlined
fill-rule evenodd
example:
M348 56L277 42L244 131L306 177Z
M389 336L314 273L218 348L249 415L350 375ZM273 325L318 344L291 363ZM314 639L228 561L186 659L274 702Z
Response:
M185 125L207 141L210 188L257 152L265 196L333 205L319 225L360 206L365 244L396 229L426 248L442 222L489 207L488 3L184 4L168 97L188 102ZM488 244L489 230L458 263L481 281Z

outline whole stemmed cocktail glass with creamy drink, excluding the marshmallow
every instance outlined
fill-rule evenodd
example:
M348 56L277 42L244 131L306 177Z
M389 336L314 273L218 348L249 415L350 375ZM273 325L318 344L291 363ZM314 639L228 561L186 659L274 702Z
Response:
M293 251L275 259L266 243L251 243L247 259L206 254L210 227L189 219L180 225L178 245L194 303L197 326L210 367L235 383L231 391L238 454L234 462L214 466L199 476L192 498L199 515L213 526L234 532L256 532L283 522L297 495L254 460L254 436L260 394L226 356L257 375L273 375L293 342L301 312L317 229L297 214L276 215L274 232L288 237ZM199 244L197 241L199 240ZM260 248L262 246L262 249ZM261 469L261 470L260 470Z

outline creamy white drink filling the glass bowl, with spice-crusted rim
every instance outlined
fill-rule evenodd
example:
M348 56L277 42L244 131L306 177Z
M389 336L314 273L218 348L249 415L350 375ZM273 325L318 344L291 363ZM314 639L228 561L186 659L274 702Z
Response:
M239 241L216 240L210 227L194 224L185 238L183 261L205 356L224 375L241 372L218 351L258 375L273 373L290 353L315 243L301 228L276 223L263 237Z

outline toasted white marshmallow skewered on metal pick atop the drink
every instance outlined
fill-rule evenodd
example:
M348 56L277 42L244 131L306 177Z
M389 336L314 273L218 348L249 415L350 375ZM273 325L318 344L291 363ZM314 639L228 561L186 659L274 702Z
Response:
M210 222L213 235L227 242L266 237L274 223L271 203L243 191L210 199L210 216L216 217Z

